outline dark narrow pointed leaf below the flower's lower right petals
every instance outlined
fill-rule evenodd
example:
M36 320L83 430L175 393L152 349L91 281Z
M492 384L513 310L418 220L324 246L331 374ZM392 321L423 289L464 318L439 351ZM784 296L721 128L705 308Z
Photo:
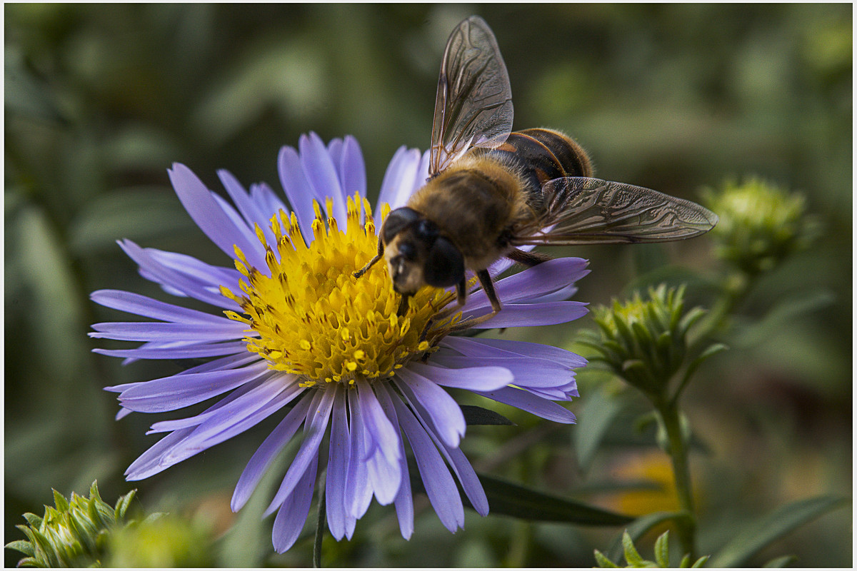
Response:
M560 521L583 526L623 526L633 519L586 503L554 496L480 474L492 514L530 521Z

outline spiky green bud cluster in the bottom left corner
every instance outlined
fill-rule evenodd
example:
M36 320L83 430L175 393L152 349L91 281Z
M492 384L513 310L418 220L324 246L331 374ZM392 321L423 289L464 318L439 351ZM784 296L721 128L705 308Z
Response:
M45 515L24 514L28 526L17 526L27 541L13 541L8 549L26 557L18 567L100 567L111 531L126 524L125 515L136 491L120 497L111 507L99 496L93 482L89 497L72 492L67 500L54 490L55 508L45 506Z

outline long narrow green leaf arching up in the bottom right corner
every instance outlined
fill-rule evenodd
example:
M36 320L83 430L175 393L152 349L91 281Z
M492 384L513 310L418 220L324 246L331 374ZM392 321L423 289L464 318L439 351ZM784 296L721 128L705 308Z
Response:
M843 497L819 496L789 503L745 526L711 559L711 567L740 567L767 544L807 521L847 503Z

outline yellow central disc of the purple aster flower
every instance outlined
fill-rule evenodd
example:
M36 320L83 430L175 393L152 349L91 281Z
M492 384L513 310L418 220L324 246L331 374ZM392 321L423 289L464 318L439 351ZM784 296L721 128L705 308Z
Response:
M460 318L434 318L454 295L426 287L399 312L401 296L393 291L384 264L360 278L353 275L377 252L369 203L359 195L348 199L345 231L314 206L309 247L297 217L285 211L270 222L275 243L255 229L267 267L252 267L236 247L241 291L221 287L220 292L243 314L225 315L248 325L243 340L248 351L273 370L300 375L302 386L390 378L409 360L434 350L444 328ZM326 206L333 211L329 199ZM388 212L384 205L382 215Z

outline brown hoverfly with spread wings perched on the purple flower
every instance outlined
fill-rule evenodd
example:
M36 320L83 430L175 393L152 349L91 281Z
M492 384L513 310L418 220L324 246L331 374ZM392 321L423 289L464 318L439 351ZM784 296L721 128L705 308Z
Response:
M472 271L500 311L488 266L506 257L524 265L549 259L520 249L683 240L703 234L716 215L684 199L591 178L584 150L545 128L512 133L512 90L494 33L479 16L452 30L440 64L429 176L381 226L378 253L393 288L455 286L458 304Z

